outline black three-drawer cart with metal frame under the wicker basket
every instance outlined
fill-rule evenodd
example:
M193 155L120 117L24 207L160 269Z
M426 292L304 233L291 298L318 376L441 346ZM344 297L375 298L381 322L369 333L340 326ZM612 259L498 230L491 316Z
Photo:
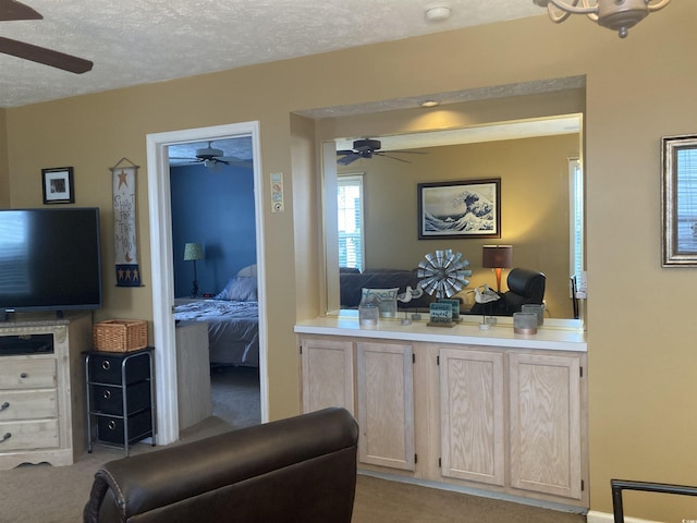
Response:
M85 353L87 452L93 442L129 447L145 438L155 446L154 348Z

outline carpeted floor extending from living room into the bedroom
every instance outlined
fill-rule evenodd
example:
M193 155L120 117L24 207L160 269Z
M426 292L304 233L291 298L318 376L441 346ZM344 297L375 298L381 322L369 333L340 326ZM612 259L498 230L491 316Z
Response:
M182 433L182 445L259 423L258 374L225 367L212 374L213 415ZM133 453L157 447L136 443ZM0 523L78 523L93 476L123 451L95 446L71 466L0 471ZM205 521L205 519L201 519ZM584 523L585 516L358 475L354 523ZM329 523L329 522L328 522Z

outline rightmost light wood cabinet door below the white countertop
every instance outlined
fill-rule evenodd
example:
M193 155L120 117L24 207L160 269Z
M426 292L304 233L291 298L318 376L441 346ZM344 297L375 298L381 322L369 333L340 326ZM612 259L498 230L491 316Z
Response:
M511 484L580 499L580 357L512 353Z

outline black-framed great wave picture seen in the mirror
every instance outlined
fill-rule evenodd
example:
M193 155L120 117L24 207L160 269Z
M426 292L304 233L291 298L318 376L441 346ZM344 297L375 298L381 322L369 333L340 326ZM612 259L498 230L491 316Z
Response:
M501 238L501 179L417 184L418 239Z

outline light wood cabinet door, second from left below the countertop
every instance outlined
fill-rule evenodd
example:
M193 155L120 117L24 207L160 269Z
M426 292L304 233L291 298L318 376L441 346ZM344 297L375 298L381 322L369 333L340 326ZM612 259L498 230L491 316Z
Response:
M357 343L358 461L414 471L412 345Z

